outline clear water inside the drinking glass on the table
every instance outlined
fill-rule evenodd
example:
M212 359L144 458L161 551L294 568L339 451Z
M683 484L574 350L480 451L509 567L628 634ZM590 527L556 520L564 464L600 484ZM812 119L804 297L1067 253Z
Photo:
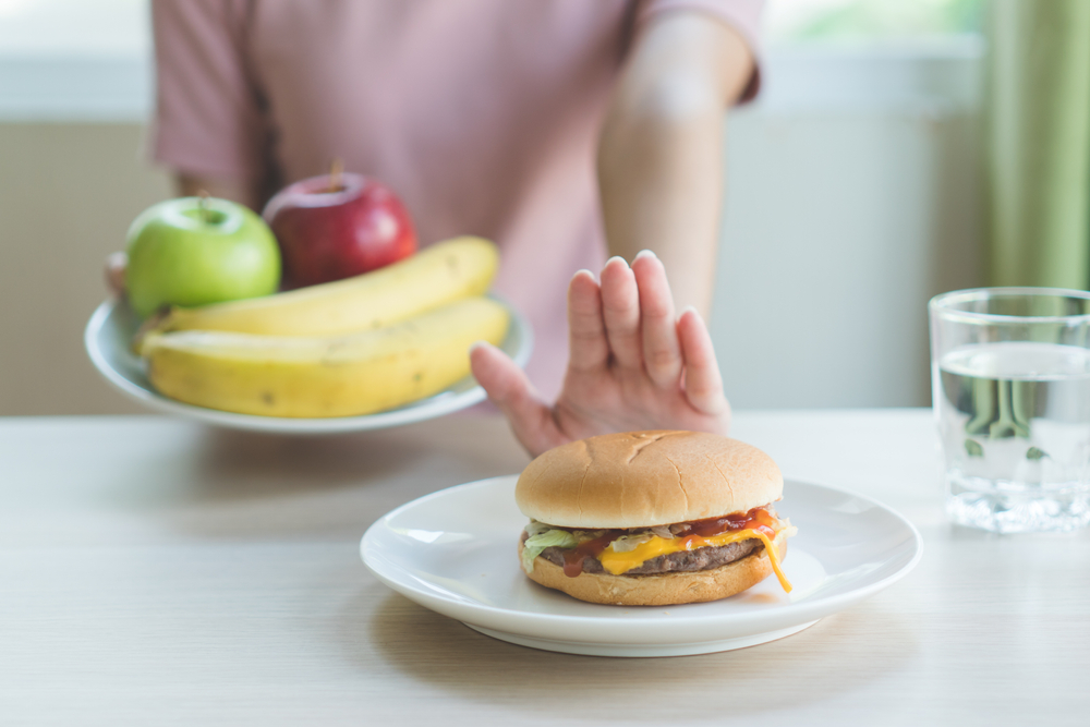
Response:
M1090 523L1090 350L973 343L935 368L950 518L1004 533Z

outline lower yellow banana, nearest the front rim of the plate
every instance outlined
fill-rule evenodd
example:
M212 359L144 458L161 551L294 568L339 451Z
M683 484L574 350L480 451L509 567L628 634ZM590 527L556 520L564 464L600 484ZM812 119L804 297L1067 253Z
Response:
M474 341L499 343L499 303L456 301L401 323L336 337L228 331L152 332L148 378L198 407L267 416L352 416L422 399L469 375Z

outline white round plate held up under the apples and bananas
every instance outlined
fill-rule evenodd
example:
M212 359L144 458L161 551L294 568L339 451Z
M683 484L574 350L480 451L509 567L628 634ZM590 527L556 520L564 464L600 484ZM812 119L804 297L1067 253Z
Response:
M525 366L533 349L533 331L522 315L506 301L511 314L511 325L500 349L517 364ZM484 389L472 376L467 376L439 393L412 403L364 416L330 416L325 419L289 419L258 416L194 407L168 399L147 380L144 361L129 348L140 320L125 303L107 301L98 306L87 322L83 342L95 368L106 380L132 399L168 414L187 416L209 424L254 432L281 432L286 434L327 434L334 432L361 432L385 429L443 416L485 399Z

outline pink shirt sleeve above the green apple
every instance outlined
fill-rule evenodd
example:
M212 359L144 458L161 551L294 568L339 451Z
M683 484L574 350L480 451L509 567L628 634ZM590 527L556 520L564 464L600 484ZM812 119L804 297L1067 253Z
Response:
M268 132L244 44L246 4L157 0L153 156L181 173L255 179Z

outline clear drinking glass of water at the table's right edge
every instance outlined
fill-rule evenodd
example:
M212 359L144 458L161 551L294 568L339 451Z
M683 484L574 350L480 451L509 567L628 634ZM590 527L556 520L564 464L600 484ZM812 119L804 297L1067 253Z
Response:
M928 310L949 518L1000 533L1090 523L1090 292L959 290Z

